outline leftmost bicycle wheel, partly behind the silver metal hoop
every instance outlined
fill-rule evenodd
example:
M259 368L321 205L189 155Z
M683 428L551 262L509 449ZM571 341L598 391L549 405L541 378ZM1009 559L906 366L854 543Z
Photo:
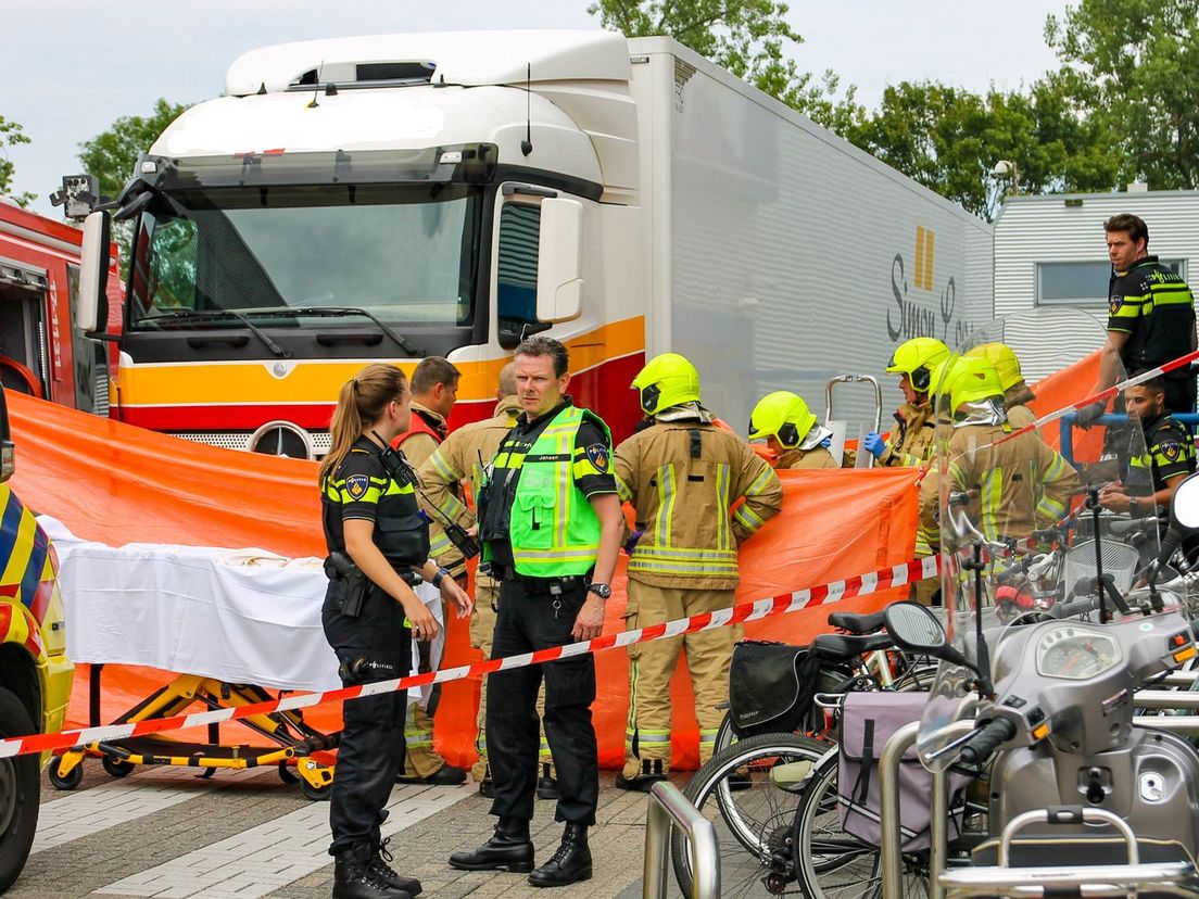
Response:
M799 893L790 850L795 809L803 777L827 749L794 734L747 737L687 782L683 794L716 828L722 895ZM675 880L691 895L691 846L677 828L670 832L670 855Z

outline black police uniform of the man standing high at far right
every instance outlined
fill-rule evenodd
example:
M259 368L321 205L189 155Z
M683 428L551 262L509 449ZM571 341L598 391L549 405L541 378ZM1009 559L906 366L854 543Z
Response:
M1108 283L1108 331L1128 334L1120 360L1135 374L1191 352L1195 337L1194 297L1186 282L1157 261L1138 260ZM1195 404L1195 379L1189 366L1163 376L1165 408L1189 412Z

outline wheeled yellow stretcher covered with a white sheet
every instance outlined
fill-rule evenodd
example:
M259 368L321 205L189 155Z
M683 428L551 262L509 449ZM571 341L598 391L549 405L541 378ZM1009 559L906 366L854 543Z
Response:
M287 560L261 550L79 541L60 523L42 518L55 542L67 611L67 650L91 664L89 723L101 720L104 665L149 665L175 674L112 724L171 718L197 711L272 702L296 689L342 686L324 636L320 608L327 578L319 560ZM441 619L440 592L416 589ZM434 652L440 660L441 641ZM410 692L420 701L420 690ZM229 728L248 728L266 746L230 742ZM305 722L299 710L239 718L225 731L209 726L207 740L188 742L151 734L77 746L53 759L50 783L71 790L88 758L113 777L138 765L218 770L275 766L311 800L327 798L333 784L338 734ZM264 742L263 740L258 741Z

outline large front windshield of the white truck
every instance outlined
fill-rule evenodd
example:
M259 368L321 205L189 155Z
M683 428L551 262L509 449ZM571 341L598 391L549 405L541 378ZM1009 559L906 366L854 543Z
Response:
M481 210L481 188L446 183L161 194L138 223L129 325L240 327L233 315L186 313L269 318L297 307L357 307L400 325L470 325ZM278 324L309 322L293 313Z

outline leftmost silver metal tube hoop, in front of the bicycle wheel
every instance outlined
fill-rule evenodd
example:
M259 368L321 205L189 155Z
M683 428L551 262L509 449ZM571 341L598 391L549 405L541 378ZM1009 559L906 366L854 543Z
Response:
M716 829L677 786L665 782L650 788L641 895L644 899L664 899L667 894L671 823L687 835L691 844L692 899L717 899L721 895L721 852Z

